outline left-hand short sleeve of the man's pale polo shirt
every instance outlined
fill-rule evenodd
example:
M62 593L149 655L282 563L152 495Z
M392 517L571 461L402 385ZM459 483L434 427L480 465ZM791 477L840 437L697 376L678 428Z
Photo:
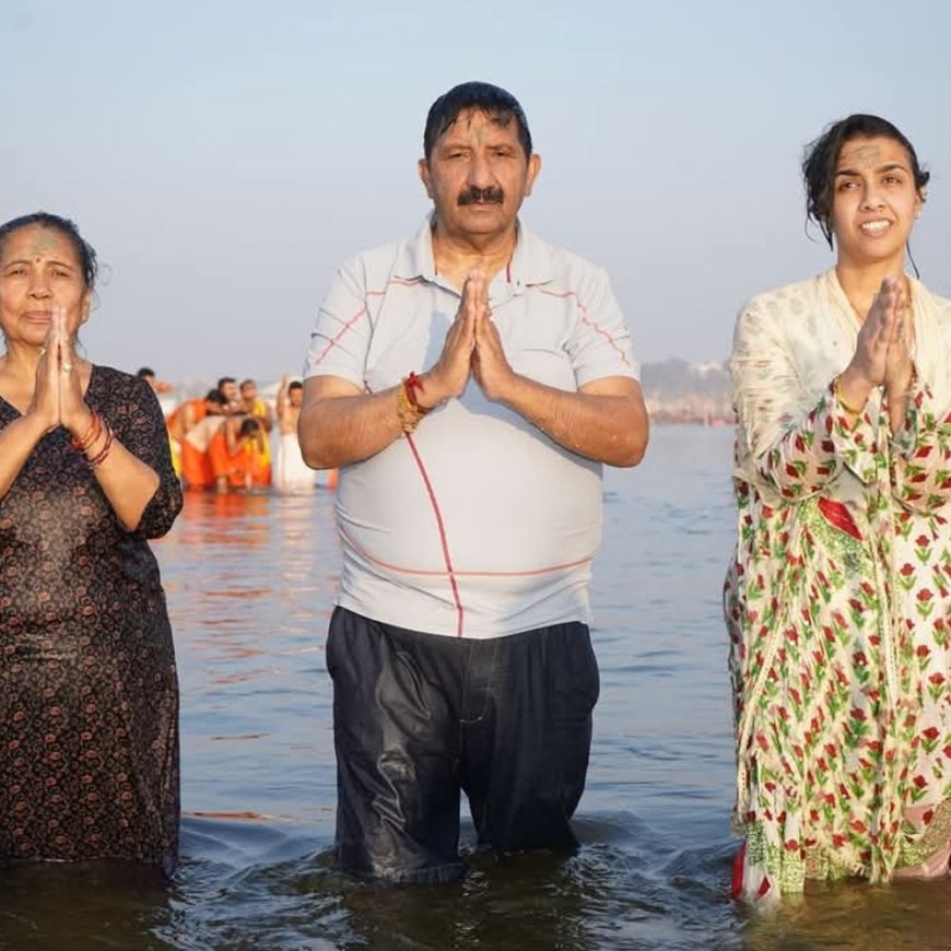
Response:
M372 331L365 269L356 257L337 271L317 312L304 379L339 376L362 389Z

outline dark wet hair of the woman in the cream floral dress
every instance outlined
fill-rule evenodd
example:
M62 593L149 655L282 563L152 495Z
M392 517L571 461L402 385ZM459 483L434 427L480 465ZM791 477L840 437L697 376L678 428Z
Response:
M806 146L802 160L802 177L806 181L806 216L812 219L833 247L832 199L835 183L835 168L842 146L853 139L884 138L897 142L907 153L915 177L915 188L924 198L925 186L931 174L921 167L914 145L904 133L888 119L856 113L837 122L832 122L825 131Z

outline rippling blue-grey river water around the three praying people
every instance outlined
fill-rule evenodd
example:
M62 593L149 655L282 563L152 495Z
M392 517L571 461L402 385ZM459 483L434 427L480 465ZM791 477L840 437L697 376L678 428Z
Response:
M476 854L462 883L439 888L362 885L331 867L332 493L189 495L155 544L181 682L180 870L171 884L98 864L7 870L0 947L951 948L951 880L817 889L771 915L728 900L729 459L727 428L656 427L638 469L606 476L578 854Z

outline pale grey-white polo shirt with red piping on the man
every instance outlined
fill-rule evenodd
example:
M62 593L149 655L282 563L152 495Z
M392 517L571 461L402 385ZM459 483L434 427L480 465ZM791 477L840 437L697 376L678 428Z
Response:
M431 223L338 271L304 376L378 392L438 360L460 293L433 265ZM525 228L490 286L516 373L576 390L638 378L606 273ZM394 400L396 413L396 400ZM432 634L498 637L590 623L601 538L601 465L561 448L474 379L415 432L340 471L338 603Z

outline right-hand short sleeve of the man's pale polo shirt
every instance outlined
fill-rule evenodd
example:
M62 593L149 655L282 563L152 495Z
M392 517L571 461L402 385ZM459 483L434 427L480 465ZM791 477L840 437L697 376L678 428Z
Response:
M578 318L567 341L577 386L607 376L641 378L631 333L607 273L591 268L577 295Z

